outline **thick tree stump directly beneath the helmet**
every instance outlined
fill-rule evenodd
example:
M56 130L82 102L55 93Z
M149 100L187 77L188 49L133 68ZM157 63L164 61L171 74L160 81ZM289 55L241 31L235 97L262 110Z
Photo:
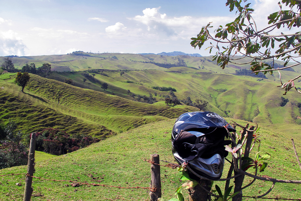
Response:
M211 181L201 179L200 185L207 190L211 190ZM200 185L188 189L189 201L207 201L210 200L210 195Z

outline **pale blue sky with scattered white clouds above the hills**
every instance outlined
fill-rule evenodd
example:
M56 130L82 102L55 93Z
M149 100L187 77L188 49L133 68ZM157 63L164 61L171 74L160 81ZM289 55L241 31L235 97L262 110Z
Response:
M85 52L160 53L194 50L202 26L233 21L226 1L2 1L0 56ZM278 8L275 0L248 1L257 20ZM273 10L274 9L274 10ZM270 12L271 11L271 12ZM274 11L274 12L275 12Z

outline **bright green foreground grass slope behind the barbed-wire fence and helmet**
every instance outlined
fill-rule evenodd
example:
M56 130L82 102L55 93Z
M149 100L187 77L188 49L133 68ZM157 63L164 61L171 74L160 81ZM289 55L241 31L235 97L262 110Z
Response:
M230 120L227 118L228 122ZM158 153L161 160L174 162L170 148L171 129L174 121L175 119L171 119L143 125L76 152L37 162L34 175L46 179L72 180L110 186L149 187L150 164L144 159L149 159L150 154ZM237 121L237 123L246 124L245 121ZM300 180L299 166L294 156L290 138L287 137L289 133L282 133L262 124L259 126L262 136L261 150L272 156L268 160L268 167L259 175ZM300 139L295 139L299 152L301 150L300 142ZM256 146L250 157L254 158L255 153ZM228 159L231 160L230 155ZM229 164L226 162L222 178L226 176L228 166ZM163 166L160 169L162 196L167 199L173 198L176 188L184 182L179 181L180 175L175 169ZM252 172L253 169L249 171ZM0 175L12 173L26 173L26 166L0 170ZM24 178L23 175L0 177L0 199L22 200L22 196L9 194L23 194ZM243 186L251 180L250 177L245 177ZM34 178L33 181L41 180ZM23 186L16 186L15 183L21 183ZM218 184L222 190L225 185L224 182L214 182L214 184ZM232 182L231 185L233 185ZM243 193L246 196L261 195L271 185L271 182L256 180L252 187L248 187ZM33 197L33 200L149 200L148 191L143 189L118 189L92 185L71 187L69 182L55 181L33 182L33 188L34 193L41 189L41 193L44 194L42 197ZM277 183L268 197L279 196L298 199L300 198L300 190L300 184ZM183 193L185 200L188 200L187 190L183 190Z

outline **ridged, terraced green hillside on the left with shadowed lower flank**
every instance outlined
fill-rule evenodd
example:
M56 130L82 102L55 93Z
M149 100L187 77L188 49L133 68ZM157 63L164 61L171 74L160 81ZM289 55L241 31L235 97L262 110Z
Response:
M129 130L142 124L175 118L196 108L150 105L118 96L108 96L94 90L82 89L56 80L30 74L24 93L13 83L1 80L0 117L16 121L23 132L41 131L52 127L67 133L107 136ZM60 104L54 96L62 92Z

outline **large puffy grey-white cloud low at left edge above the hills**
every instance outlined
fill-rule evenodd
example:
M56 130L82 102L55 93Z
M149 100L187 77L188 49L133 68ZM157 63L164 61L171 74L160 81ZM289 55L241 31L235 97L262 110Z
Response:
M12 30L0 32L0 55L23 56L25 48L26 45L16 32Z

